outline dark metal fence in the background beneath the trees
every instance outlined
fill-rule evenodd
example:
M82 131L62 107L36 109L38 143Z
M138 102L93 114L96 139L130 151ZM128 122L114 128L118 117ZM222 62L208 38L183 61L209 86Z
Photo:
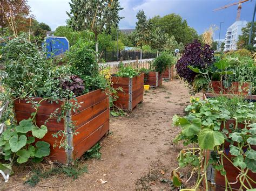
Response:
M142 56L142 58L140 58ZM107 51L106 49L103 51L100 51L100 58L104 59L106 62L113 62L113 61L120 61L120 60L136 60L136 59L150 59L150 58L156 58L157 52L142 52L140 51L115 51L112 49L112 51Z

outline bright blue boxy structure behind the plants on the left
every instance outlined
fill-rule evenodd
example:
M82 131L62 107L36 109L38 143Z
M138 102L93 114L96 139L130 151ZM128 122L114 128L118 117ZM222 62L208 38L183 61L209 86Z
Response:
M42 46L47 52L47 58L49 58L69 51L69 40L66 37L46 37Z

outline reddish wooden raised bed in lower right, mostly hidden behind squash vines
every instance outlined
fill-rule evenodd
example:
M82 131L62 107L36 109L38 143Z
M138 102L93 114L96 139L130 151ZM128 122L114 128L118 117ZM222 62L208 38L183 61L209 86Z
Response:
M230 119L225 122L225 127L227 130L230 131L229 127L230 125L233 124L235 126L235 121ZM221 124L220 129L222 130L224 128L224 123ZM245 125L242 123L238 123L238 128L244 129ZM230 131L231 132L231 131ZM251 146L253 150L256 150L256 146ZM244 148L246 151L246 148ZM224 143L224 153L225 155L231 160L231 158L235 157L230 154L230 143L225 142ZM210 156L210 151L207 152L207 159ZM227 174L227 179L229 182L237 182L235 184L232 184L231 187L233 189L239 189L241 186L240 181L237 181L237 176L240 173L239 169L233 166L233 164L228 161L225 157L223 157L223 163L224 163L224 168L226 170ZM248 171L248 176L252 178L253 180L256 180L256 173L253 173L252 171ZM211 165L208 167L207 171L207 179L209 186L208 188L211 187L211 190L225 190L225 177L220 174L219 171L216 171ZM256 184L253 182L250 182L253 188L256 188ZM247 182L245 181L245 185L248 187ZM213 189L212 189L213 188Z

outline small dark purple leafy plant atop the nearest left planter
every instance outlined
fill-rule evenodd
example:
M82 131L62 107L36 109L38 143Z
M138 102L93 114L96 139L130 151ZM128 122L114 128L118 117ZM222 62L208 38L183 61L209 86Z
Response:
M83 95L85 90L84 81L77 75L71 75L68 79L63 79L60 86L64 90L72 91L76 96Z

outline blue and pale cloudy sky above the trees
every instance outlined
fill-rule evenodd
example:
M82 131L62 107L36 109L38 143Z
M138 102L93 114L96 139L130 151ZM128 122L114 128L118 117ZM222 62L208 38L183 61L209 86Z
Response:
M211 25L221 25L220 38L225 38L228 26L235 22L237 17L237 5L227 9L214 12L213 9L220 8L239 0L119 0L124 8L119 15L125 17L120 20L119 29L134 29L136 25L136 14L144 10L147 18L154 16L165 16L176 13L187 20L188 25L203 33ZM242 3L241 20L252 21L254 3L256 0ZM65 25L70 11L70 0L28 0L31 13L38 22L50 25L52 30L57 26ZM215 31L214 39L218 39L219 30Z

